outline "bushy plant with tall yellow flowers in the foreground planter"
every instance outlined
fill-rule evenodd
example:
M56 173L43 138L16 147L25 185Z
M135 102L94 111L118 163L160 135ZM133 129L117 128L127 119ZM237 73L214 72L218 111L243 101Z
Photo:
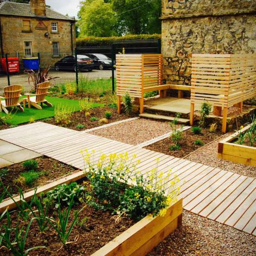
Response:
M126 214L139 220L148 213L154 216L163 214L165 208L179 193L176 178L171 181L170 190L167 189L170 170L163 178L163 173L157 172L156 165L147 178L143 177L141 172L136 170L136 165L140 163L135 159L136 155L129 159L128 153L108 156L103 154L100 162L94 164L87 150L81 153L85 160L85 168L89 171L88 180L91 189L86 191L84 198L96 209L115 208L117 209L115 213Z

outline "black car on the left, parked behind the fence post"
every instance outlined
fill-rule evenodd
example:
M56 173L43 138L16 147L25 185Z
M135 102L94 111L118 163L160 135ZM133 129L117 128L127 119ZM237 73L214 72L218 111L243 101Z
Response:
M94 60L87 55L78 54L77 55L77 67L78 71L92 71L95 69ZM55 70L74 70L75 71L75 56L69 55L62 58L60 61L57 61L54 64Z

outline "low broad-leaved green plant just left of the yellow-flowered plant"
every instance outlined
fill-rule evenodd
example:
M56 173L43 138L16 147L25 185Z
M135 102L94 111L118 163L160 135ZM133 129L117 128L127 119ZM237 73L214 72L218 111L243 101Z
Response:
M59 203L69 205L71 199L74 201L73 204L77 204L83 190L84 187L78 185L76 182L72 182L68 185L62 184L55 189L48 191L43 202L45 205L49 204L51 207L54 205L56 209L60 207Z

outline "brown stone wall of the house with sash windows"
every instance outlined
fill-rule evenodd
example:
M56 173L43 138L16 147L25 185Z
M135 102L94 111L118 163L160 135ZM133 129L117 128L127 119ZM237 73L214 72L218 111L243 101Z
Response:
M37 53L42 55L42 64L47 65L56 62L60 58L53 57L52 42L57 41L60 45L60 53L71 54L71 32L69 20L45 20L35 18L22 18L1 16L1 27L3 37L3 51L15 56L18 51L20 58L24 56L24 42L32 42L33 56ZM22 20L30 20L31 31L22 31ZM58 33L51 32L51 23L58 22ZM75 47L75 26L73 25L73 50ZM49 33L45 37L45 33ZM21 62L20 62L21 63Z

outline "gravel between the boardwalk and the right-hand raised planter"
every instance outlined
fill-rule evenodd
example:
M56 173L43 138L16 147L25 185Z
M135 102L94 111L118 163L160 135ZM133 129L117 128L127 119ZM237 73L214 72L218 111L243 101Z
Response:
M256 167L230 162L227 160L219 159L217 157L218 142L223 140L225 137L230 136L231 134L233 133L228 133L219 140L213 141L206 147L203 147L197 150L195 153L192 153L191 155L186 157L186 159L193 162L198 162L212 167L220 168L222 170L234 172L240 175L245 175L247 177L256 178Z

